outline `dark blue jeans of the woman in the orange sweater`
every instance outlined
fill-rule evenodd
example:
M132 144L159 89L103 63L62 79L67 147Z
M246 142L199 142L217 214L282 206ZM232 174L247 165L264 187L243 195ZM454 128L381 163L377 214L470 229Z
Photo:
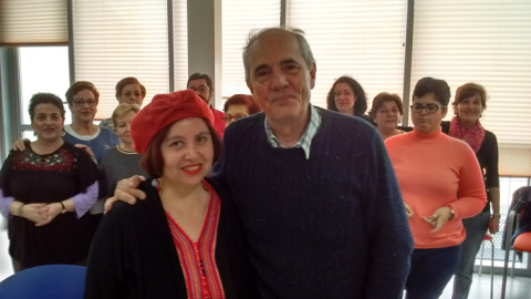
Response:
M406 299L437 299L459 266L461 246L415 249Z

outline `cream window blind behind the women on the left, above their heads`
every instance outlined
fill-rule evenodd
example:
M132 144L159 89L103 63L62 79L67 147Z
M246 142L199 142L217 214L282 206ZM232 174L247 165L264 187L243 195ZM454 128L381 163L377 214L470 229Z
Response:
M146 86L144 105L169 92L167 1L73 0L75 80L100 92L96 120L117 106L116 83L135 76Z

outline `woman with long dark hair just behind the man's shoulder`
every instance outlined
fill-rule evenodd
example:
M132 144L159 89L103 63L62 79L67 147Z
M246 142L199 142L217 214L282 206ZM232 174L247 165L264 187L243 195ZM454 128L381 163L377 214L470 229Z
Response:
M340 76L326 96L329 110L347 115L354 115L373 123L371 117L364 113L367 111L367 99L362 85L351 76Z

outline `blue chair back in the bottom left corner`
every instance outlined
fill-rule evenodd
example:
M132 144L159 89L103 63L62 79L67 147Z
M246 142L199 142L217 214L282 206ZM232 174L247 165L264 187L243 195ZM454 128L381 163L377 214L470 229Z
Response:
M45 265L17 272L0 282L0 298L83 298L86 267Z

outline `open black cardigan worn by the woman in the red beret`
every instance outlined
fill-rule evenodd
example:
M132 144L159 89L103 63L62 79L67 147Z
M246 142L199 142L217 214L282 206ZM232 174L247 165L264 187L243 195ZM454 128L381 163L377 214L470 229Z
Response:
M152 181L136 205L116 203L91 247L85 298L187 298L168 223ZM221 200L216 264L226 298L257 298L241 231L229 200Z

